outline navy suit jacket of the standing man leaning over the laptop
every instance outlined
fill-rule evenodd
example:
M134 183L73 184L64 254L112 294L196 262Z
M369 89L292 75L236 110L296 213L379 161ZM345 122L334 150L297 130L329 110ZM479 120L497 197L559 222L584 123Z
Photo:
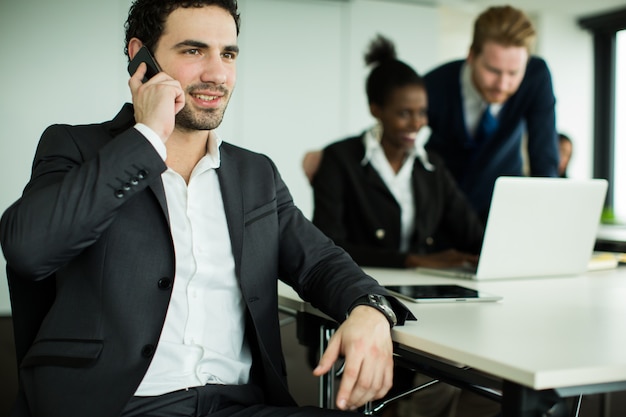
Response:
M496 178L523 175L522 138L528 133L530 175L556 177L559 162L552 78L545 61L531 57L519 89L504 104L493 136L473 145L461 99L464 60L425 75L428 119L433 134L427 149L446 162L460 188L486 219Z

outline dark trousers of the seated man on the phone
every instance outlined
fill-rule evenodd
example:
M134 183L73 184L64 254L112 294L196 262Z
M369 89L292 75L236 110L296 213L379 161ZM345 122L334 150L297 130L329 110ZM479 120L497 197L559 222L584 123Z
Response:
M346 417L354 413L262 403L254 385L205 385L154 397L133 397L121 417Z

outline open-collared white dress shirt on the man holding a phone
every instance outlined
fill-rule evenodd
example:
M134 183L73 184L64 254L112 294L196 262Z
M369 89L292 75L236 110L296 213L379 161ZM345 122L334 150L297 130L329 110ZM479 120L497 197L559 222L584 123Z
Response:
M136 128L165 159L159 137L144 125ZM137 396L205 384L244 384L249 379L245 303L216 173L220 143L212 132L207 155L192 171L189 184L172 169L161 176L176 276L161 338Z

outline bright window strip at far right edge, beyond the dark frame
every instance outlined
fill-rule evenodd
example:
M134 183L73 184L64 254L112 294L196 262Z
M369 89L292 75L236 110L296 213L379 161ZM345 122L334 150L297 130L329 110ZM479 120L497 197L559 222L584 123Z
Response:
M615 54L615 152L613 164L615 166L613 203L615 220L626 223L626 164L623 163L626 155L626 30L617 32ZM619 163L619 160L622 163Z

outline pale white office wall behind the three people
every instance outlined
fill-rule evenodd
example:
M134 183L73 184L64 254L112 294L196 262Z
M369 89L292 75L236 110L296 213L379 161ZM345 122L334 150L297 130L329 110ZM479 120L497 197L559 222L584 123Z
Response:
M129 99L122 49L130 2L0 2L0 211L21 194L46 126L107 120ZM240 0L238 85L220 134L270 155L309 216L311 190L300 168L304 152L372 123L362 57L368 42L377 33L388 36L400 59L420 73L463 57L478 11L450 7L400 0ZM591 41L573 18L542 19L539 53L555 75L559 128L577 146L572 174L588 176L591 152L587 158L581 149L587 152L591 141ZM2 268L0 314L9 311Z

